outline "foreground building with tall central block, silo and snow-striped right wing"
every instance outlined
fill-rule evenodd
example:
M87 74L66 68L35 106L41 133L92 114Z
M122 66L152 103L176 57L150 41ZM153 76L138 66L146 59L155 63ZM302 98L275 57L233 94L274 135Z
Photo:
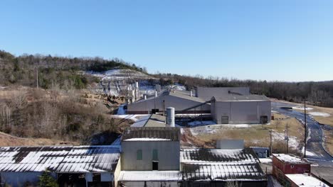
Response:
M181 149L173 108L166 113L147 115L125 131L118 185L267 186L255 152L244 149L243 140L218 141L217 149Z

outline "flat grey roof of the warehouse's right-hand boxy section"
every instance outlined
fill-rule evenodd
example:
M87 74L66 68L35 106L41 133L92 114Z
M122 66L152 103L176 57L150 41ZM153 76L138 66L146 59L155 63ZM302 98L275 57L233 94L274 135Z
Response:
M270 101L270 99L263 95L245 95L240 96L237 94L228 94L221 97L213 97L216 101Z

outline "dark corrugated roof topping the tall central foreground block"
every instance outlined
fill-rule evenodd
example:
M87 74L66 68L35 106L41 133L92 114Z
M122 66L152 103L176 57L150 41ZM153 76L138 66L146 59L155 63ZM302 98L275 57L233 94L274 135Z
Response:
M132 138L156 138L179 141L181 137L179 128L127 128L122 135L122 140Z

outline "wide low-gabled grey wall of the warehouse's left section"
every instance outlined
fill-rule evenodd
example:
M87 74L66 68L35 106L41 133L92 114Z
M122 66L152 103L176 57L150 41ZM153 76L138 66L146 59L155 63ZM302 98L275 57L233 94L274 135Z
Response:
M150 113L154 108L156 100L156 108L159 109L160 112L163 111L163 100L165 101L165 108L174 107L175 111L181 111L191 106L199 105L201 102L192 101L186 98L179 98L176 96L159 96L156 99L151 98L144 101L139 101L136 103L129 104L127 106L127 113ZM211 111L211 106L206 104L204 106L200 106L195 109L191 109L191 111Z

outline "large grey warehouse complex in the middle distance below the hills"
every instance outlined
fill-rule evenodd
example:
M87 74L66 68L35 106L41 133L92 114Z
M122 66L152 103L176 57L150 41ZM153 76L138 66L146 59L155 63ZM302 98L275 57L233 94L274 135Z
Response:
M195 93L194 93L195 92ZM197 87L195 91L169 90L129 103L128 114L162 113L175 108L177 114L210 114L218 124L270 123L271 103L248 87Z

